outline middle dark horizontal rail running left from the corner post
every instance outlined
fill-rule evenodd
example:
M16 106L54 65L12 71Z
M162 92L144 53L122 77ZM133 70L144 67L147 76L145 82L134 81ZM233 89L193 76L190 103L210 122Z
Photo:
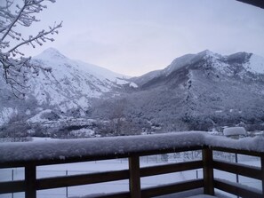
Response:
M172 164L164 164L158 166L140 168L140 177L155 176L184 170L195 170L203 168L202 161L180 162ZM36 179L36 190L44 190L51 188L59 188L65 186L81 186L96 184L102 182L110 182L116 180L129 179L129 170L104 171L99 173L87 173L71 176L59 176L52 178ZM24 180L0 182L0 193L15 193L26 190ZM123 196L123 195L122 195Z

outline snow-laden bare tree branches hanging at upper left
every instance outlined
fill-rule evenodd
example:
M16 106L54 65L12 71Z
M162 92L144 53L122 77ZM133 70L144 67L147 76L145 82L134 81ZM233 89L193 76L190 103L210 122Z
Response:
M18 98L23 98L23 89L26 88L28 81L27 74L38 73L39 67L30 63L30 57L20 51L20 46L43 45L47 41L54 41L52 35L58 34L59 24L54 23L47 30L40 30L35 36L23 36L20 33L20 27L30 27L37 20L35 14L42 12L46 5L44 2L55 0L21 0L14 4L12 0L3 0L0 4L0 69L3 71L3 77L7 84L12 88L13 94ZM50 71L50 68L42 68ZM2 73L2 72L1 72Z

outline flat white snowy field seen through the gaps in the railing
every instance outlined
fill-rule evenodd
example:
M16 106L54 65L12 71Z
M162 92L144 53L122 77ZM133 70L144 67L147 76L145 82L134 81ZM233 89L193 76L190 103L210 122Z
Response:
M181 156L183 154L180 154ZM181 159L172 158L172 154L168 159L168 162L163 162L161 155L146 156L140 159L140 166L153 166L161 163L170 163L170 162L180 162ZM260 161L255 157L248 157L244 155L238 155L238 162L250 164L253 166L260 166ZM60 165L49 165L49 166L40 166L37 167L37 178L46 178L54 176L63 176L63 175L74 175L82 173L92 173L100 172L106 170L127 170L128 161L127 159L116 159L108 161L97 161L97 162L79 162L79 163L68 163ZM24 170L23 169L4 169L0 170L1 181L23 179ZM214 170L214 175L216 178L223 178L229 181L236 181L236 175L229 174L220 170ZM183 181L186 179L193 178L202 178L203 170L188 170L178 173L165 174L155 177L146 177L141 178L141 187L148 186L158 186L162 184L168 184L176 181ZM251 186L257 189L261 189L261 182L256 179L239 177L239 182ZM72 186L64 188L56 188L52 190L42 190L37 192L37 197L45 198L62 198L62 197L72 197L72 196L82 196L85 194L102 194L110 192L119 192L119 191L128 191L128 180L120 180L116 182L106 182L96 185L86 185L86 186ZM24 197L23 193L18 194L0 194L1 198L21 198ZM236 196L230 196L236 197Z

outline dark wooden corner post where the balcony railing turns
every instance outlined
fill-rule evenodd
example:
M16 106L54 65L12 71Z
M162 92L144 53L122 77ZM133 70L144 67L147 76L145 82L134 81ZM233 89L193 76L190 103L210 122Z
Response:
M212 167L212 149L206 147L203 149L204 163L204 194L214 195L213 186L213 167Z

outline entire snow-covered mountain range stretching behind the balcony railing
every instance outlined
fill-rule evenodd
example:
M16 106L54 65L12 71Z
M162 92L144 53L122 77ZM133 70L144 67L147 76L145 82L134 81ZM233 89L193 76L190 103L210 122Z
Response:
M162 70L130 79L54 49L32 61L52 72L32 76L23 101L0 84L0 123L11 115L19 121L27 115L26 122L56 125L56 131L93 127L89 119L97 119L95 125L106 121L96 125L98 131L115 134L110 125L116 120L117 128L128 132L207 131L237 124L264 130L264 58L252 53L187 54Z

